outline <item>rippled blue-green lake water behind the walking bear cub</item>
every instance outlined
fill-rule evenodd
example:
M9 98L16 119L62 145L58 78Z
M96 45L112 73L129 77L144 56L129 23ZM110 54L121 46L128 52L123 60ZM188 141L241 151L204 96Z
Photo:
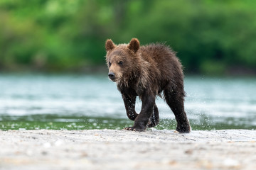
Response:
M256 129L256 78L186 77L185 109L193 130ZM137 112L142 106L137 100ZM174 130L157 98L160 123ZM0 74L0 130L122 129L133 125L106 75Z

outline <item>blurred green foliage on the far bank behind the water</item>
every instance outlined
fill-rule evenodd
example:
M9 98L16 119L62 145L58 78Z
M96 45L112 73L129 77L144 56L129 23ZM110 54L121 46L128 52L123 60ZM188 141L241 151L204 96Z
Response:
M256 2L3 0L0 69L79 70L105 64L105 40L166 42L187 72L256 66Z

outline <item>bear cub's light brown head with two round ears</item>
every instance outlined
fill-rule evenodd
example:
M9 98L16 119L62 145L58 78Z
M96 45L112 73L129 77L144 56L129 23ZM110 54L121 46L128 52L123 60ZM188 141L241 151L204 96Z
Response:
M105 44L107 50L106 62L109 68L108 77L112 81L128 81L132 73L138 69L139 40L132 38L129 44L115 45L112 40Z

